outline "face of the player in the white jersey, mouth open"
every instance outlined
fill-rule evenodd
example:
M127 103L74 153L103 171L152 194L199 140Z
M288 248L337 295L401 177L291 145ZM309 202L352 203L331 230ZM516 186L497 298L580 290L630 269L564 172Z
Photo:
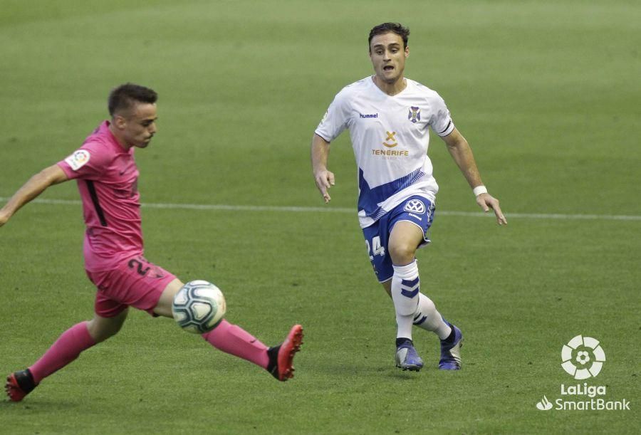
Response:
M403 77L405 58L410 48L403 48L403 39L394 32L383 33L372 38L370 59L376 77L385 83L395 83Z

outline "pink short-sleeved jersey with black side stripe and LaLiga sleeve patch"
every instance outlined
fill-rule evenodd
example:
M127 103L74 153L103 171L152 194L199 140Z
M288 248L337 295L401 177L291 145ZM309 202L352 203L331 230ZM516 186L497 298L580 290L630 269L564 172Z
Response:
M71 156L58 162L76 179L83 200L87 271L109 271L119 261L142 255L140 194L134 148L125 150L105 121Z

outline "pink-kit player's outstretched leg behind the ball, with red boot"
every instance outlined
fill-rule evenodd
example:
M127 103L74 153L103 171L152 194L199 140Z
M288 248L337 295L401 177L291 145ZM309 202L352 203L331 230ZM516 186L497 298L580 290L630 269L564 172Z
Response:
M183 283L178 279L171 281L153 309L157 315L172 318L172 302ZM244 360L253 362L268 370L276 379L285 381L293 377L293 357L300 350L303 340L303 327L294 325L281 345L267 347L256 337L238 325L226 320L202 337L210 345L222 352L229 353Z

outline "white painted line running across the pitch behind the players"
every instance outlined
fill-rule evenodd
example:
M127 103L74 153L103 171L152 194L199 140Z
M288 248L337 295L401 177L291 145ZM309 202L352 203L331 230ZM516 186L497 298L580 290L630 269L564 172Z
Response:
M8 198L0 196L0 201L6 201ZM37 204L63 204L79 205L82 204L78 199L34 199L32 202ZM355 209L345 207L300 207L300 206L242 206L227 204L165 204L165 203L142 203L143 207L150 209L184 209L184 210L228 210L228 211L291 211L295 213L356 213ZM481 211L447 211L437 210L437 214L445 216L494 216L490 213ZM509 213L506 218L526 218L526 219L592 219L605 221L641 221L638 215L622 214L546 214L546 213Z

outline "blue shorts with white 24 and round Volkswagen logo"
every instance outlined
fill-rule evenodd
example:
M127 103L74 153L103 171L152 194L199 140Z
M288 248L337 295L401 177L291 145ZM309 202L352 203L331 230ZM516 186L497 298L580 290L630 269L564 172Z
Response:
M398 221L412 222L423 231L423 241L419 244L424 246L429 243L427 230L434 221L434 204L423 196L410 196L388 211L374 224L363 229L365 243L368 247L368 256L374 267L374 273L380 283L389 281L394 274L392 258L388 253L387 243L392 234L392 228Z

